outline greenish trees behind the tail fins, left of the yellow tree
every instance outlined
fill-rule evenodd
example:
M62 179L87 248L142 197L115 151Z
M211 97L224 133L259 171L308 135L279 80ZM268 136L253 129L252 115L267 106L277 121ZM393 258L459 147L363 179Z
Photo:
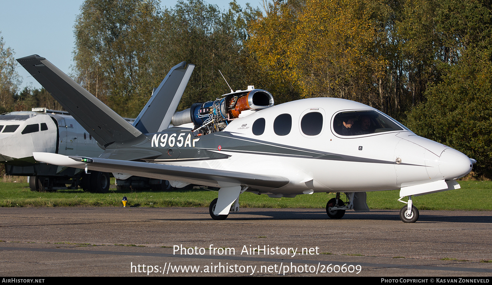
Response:
M123 116L136 117L154 87L181 61L196 65L180 108L227 92L220 69L237 87L249 17L201 0L162 11L155 0L86 0L75 25L74 72L83 87Z

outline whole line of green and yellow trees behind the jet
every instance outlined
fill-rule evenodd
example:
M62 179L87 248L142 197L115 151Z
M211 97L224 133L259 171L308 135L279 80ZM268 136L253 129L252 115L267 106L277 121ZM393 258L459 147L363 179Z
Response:
M125 117L135 117L181 61L196 68L180 110L229 92L219 70L234 90L255 85L277 104L355 100L477 159L477 175L492 177L491 6L270 0L261 8L232 1L221 10L202 0L168 9L156 0L86 0L75 21L71 75ZM1 72L4 110L37 98L29 90L21 95L15 80L3 85Z

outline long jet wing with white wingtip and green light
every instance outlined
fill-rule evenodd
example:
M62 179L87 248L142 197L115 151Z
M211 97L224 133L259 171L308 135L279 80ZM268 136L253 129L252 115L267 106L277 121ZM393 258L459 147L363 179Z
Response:
M231 183L235 185L246 185L253 189L269 190L280 188L289 183L289 179L275 175L250 174L228 170L107 158L69 157L52 153L33 153L33 155L37 161L49 164L75 168L85 168L87 166L89 170L120 172L213 187L221 187L219 184Z

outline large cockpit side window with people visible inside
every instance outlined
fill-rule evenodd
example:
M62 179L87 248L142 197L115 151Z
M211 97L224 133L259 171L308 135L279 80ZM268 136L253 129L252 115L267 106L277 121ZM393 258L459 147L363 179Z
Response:
M333 129L343 136L409 130L383 113L370 110L338 113L333 120Z

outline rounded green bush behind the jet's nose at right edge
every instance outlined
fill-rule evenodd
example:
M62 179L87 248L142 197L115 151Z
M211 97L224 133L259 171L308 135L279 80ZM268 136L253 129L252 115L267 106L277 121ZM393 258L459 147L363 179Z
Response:
M474 171L486 177L492 176L491 72L492 63L471 56L445 66L444 80L429 87L427 102L407 121L418 135L475 158Z

